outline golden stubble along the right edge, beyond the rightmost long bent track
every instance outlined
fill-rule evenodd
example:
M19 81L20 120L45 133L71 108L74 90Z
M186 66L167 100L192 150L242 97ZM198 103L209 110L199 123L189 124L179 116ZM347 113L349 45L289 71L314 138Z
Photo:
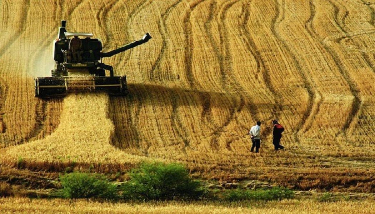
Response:
M330 1L336 13L348 14L345 18L345 25L336 22L336 32L334 37L326 35L325 41L335 47L340 52L340 58L345 69L348 70L351 78L357 83L362 99L361 108L356 117L354 124L350 126L348 135L350 136L351 145L362 147L366 144L372 144L372 135L374 126L372 118L373 109L373 87L374 82L374 56L372 50L368 47L374 45L372 32L375 30L372 24L372 10L366 7L359 7L357 3L351 3L346 7L341 1ZM358 17L355 14L361 13L363 16ZM360 20L370 20L358 25ZM324 32L324 31L323 31ZM348 58L347 55L350 55ZM358 151L360 154L369 155L369 150Z

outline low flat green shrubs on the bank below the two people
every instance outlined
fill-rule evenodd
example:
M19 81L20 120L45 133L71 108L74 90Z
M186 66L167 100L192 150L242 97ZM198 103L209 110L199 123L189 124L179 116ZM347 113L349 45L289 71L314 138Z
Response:
M294 197L294 192L284 187L273 187L269 190L228 190L223 193L226 201L272 201Z

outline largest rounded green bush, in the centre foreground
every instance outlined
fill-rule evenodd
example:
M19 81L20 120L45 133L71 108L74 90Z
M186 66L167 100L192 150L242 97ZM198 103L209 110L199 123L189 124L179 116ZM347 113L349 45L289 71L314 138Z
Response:
M204 193L201 184L193 181L189 172L177 163L143 163L129 177L121 186L127 200L191 200Z

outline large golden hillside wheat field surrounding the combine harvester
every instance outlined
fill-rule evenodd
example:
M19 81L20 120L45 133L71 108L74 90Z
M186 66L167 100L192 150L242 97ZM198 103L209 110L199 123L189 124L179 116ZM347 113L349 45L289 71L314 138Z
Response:
M371 0L1 0L1 162L177 161L209 179L373 192L374 13ZM34 98L62 19L105 51L151 34L103 60L127 76L127 96ZM286 151L273 151L276 118Z

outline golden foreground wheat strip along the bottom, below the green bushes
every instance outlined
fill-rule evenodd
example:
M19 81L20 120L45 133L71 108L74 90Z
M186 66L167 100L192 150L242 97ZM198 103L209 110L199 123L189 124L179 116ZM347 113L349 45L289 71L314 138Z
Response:
M144 204L113 204L87 200L4 198L0 199L1 213L374 213L371 201L319 203L313 200L283 200L250 206L215 205L204 203L159 202Z

